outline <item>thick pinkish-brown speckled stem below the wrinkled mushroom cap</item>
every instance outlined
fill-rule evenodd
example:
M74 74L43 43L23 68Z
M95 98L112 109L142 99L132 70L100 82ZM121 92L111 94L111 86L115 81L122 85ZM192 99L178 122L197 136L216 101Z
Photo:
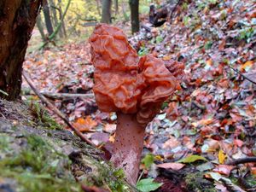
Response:
M137 122L134 114L117 113L117 117L111 161L114 166L124 169L129 183L135 184L143 152L145 126Z

